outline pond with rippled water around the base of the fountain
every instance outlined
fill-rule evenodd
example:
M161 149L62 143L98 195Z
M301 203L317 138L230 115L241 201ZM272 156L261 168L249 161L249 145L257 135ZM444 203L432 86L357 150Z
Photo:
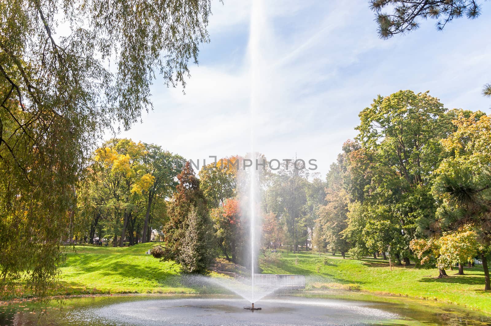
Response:
M491 316L433 301L350 292L282 294L256 303L226 295L95 296L0 307L0 325L490 325ZM42 310L42 309L41 309Z

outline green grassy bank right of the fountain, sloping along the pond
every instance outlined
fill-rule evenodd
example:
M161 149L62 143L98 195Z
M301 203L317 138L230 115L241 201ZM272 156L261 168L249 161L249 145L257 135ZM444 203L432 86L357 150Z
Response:
M296 265L297 262L297 265ZM326 264L325 264L326 262ZM263 262L263 273L304 274L311 288L359 289L380 294L395 294L432 299L491 313L491 293L485 293L481 267L464 269L465 275L436 279L438 270L395 267L390 270L382 259L357 261L331 255L281 253L277 262Z

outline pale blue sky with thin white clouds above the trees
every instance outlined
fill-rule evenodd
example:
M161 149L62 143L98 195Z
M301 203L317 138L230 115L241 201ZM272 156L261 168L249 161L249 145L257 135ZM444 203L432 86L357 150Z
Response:
M476 20L443 31L423 21L389 40L366 0L260 2L252 29L251 3L212 1L210 43L184 92L155 82L154 109L119 137L201 164L251 148L270 160L315 159L324 178L378 94L429 90L445 108L491 112L481 94L491 82L490 1Z

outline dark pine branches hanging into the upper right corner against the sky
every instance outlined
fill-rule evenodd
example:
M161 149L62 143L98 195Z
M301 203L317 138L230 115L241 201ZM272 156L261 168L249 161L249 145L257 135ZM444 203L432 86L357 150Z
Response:
M438 19L436 28L442 30L454 18L475 19L481 14L481 5L476 0L370 0L370 7L384 39L417 29L420 20ZM392 13L382 12L385 8ZM483 94L491 96L491 84L484 85Z

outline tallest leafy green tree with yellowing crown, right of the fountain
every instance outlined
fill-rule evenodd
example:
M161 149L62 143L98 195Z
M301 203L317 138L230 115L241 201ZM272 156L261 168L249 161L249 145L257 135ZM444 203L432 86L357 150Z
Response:
M363 151L355 151L355 158L363 172L357 174L370 181L361 202L372 228L365 231L365 240L382 253L392 244L395 258L402 256L409 265L409 242L416 237L418 220L436 212L430 183L442 160L440 139L452 124L437 98L410 90L378 96L359 116L356 139Z

